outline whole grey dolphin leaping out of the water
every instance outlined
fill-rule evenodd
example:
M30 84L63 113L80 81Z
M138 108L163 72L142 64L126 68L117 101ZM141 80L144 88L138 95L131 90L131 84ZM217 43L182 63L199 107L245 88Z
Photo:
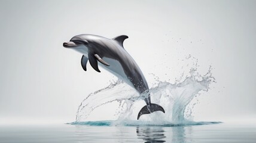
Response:
M117 36L113 39L96 35L77 35L69 42L63 43L63 46L75 49L75 51L83 54L81 65L85 71L87 61L89 60L93 69L100 72L97 62L99 61L100 66L135 88L139 94L149 94L148 83L141 69L139 69L135 60L123 48L123 41L127 38L128 36L126 35ZM163 111L164 113L163 107L151 103L150 95L144 100L147 105L139 111L137 119L142 114L150 114L154 111Z

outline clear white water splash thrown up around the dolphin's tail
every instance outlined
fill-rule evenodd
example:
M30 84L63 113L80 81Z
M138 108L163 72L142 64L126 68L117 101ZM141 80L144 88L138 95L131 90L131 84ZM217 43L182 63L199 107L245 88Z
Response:
M136 120L139 110L145 105L144 98L147 94L139 95L121 80L110 83L106 88L90 94L78 108L76 121L72 124L80 125L125 125L125 126L176 126L176 125L204 125L219 122L193 122L188 120L194 104L188 106L202 91L207 92L209 85L215 82L211 73L211 66L208 73L201 75L197 73L197 63L190 69L189 75L181 82L161 82L150 89L151 102L161 105L166 113L155 112L141 116ZM184 73L182 73L183 76ZM182 78L180 78L181 80ZM118 102L117 120L102 122L86 122L95 108L110 102Z

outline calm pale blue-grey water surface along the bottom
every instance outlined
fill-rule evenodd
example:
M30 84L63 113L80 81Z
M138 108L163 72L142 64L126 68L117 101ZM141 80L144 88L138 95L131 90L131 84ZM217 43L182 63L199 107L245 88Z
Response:
M256 142L256 125L1 125L0 142Z

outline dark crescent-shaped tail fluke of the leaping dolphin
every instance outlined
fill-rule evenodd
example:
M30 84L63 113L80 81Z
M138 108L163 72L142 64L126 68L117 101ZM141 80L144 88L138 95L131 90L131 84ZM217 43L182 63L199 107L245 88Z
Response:
M165 113L163 107L157 104L151 103L150 105L145 105L143 108L141 108L141 111L139 111L137 120L139 120L139 117L141 117L143 114L150 114L153 113L154 111L162 111Z

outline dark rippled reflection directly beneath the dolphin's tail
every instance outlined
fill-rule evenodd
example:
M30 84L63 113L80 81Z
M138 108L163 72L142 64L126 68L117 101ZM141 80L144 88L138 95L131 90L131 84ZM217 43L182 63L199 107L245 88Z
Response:
M137 127L138 139L143 139L145 142L166 142L164 138L164 130L156 127Z

